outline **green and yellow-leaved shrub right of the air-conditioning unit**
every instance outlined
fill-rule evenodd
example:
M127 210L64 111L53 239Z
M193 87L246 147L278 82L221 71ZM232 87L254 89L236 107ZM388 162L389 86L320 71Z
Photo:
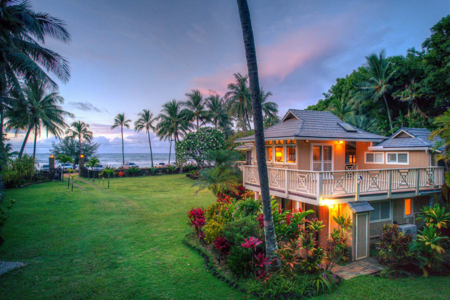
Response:
M439 273L442 270L441 254L445 252L442 243L447 238L447 236L440 236L440 232L436 232L436 227L431 225L419 230L410 249L418 260L423 276L427 277L431 271Z

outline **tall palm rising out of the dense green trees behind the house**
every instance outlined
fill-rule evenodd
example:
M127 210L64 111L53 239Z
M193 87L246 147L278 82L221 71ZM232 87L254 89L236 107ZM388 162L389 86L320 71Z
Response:
M359 102L363 98L371 97L374 101L378 101L382 98L386 106L390 130L393 130L392 117L390 115L386 94L391 88L389 80L396 70L391 69L390 62L387 61L384 50L381 50L378 55L372 53L366 56L365 59L367 76L357 83L357 87L354 90L354 100Z

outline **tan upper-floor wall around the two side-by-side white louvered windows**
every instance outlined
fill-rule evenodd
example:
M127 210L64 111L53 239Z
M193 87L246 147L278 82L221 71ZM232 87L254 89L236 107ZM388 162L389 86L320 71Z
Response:
M425 150L405 150L405 151L369 151L370 142L356 142L356 163L358 169L380 169L380 168L408 168L408 167L426 167L429 166L429 155ZM365 163L365 152L382 152L384 155L384 163ZM408 152L409 164L387 164L386 152Z

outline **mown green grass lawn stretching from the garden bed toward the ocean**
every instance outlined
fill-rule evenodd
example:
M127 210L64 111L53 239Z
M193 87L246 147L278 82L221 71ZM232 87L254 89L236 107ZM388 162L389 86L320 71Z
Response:
M97 181L98 182L98 181ZM248 299L204 268L181 243L186 211L214 201L181 175L116 178L107 189L59 182L7 190L17 200L0 260L27 265L0 276L8 299ZM81 189L83 188L83 189ZM450 277L360 276L316 299L446 299Z

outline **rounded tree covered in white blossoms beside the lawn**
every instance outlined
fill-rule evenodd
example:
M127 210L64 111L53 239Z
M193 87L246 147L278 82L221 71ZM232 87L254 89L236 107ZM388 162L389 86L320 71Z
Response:
M178 164L192 162L201 167L204 165L208 150L224 147L225 136L212 127L201 127L197 131L187 133L184 138L175 143L175 153Z

